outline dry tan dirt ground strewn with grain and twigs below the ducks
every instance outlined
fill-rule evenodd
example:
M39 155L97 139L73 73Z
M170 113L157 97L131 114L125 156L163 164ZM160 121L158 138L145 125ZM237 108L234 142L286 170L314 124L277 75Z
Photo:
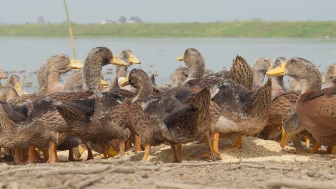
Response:
M293 154L278 142L244 137L242 149L220 151L221 161L190 157L202 149L204 143L184 145L182 163L172 163L167 145L152 147L149 162L129 149L108 160L95 153L85 161L85 151L67 162L61 151L56 164L0 163L0 189L336 189L336 159L325 154Z

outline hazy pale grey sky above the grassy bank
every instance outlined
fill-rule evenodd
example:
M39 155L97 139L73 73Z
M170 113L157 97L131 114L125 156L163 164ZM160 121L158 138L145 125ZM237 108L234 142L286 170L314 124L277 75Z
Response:
M70 19L99 23L139 16L145 22L336 20L336 0L67 0ZM0 22L66 20L63 0L0 0Z

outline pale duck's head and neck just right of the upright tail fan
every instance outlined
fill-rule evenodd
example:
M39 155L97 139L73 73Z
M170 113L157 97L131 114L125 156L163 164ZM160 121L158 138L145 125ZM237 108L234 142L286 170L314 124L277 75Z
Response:
M252 67L253 71L253 86L252 90L260 88L264 84L266 72L271 69L272 59L269 57L259 57L254 60Z

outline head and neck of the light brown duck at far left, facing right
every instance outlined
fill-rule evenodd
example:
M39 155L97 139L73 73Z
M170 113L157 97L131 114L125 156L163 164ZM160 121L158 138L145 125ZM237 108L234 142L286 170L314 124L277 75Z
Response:
M4 90L0 95L2 96L3 100L7 102L23 94L28 93L22 90L20 77L17 75L11 75L8 77Z

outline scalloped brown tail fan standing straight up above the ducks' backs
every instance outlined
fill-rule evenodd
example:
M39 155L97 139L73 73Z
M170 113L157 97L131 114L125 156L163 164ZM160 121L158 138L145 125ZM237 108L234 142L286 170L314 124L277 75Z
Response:
M240 55L233 59L232 66L228 73L228 78L239 84L252 89L253 71L249 63Z

